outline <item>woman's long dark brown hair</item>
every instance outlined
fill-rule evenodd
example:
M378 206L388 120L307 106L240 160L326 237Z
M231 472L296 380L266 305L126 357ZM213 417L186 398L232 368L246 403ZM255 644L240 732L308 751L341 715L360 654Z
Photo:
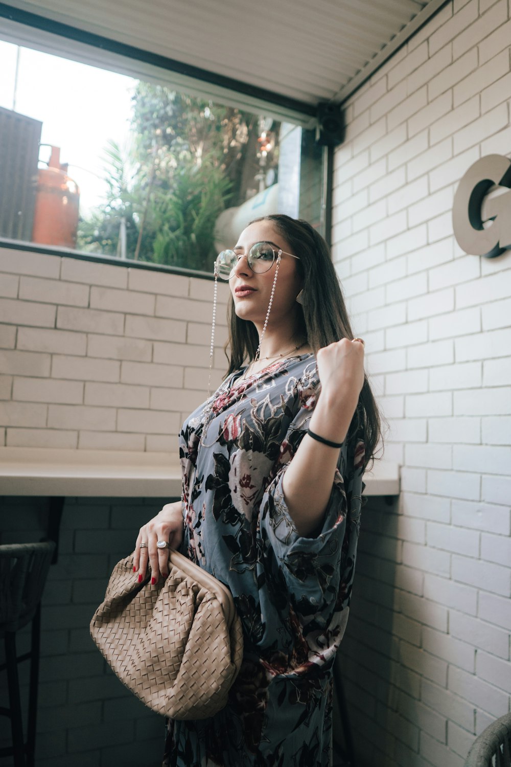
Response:
M271 222L275 230L290 245L291 252L300 256L300 261L296 262L296 268L303 280L303 304L296 304L299 308L298 317L301 325L301 328L296 329L296 335L301 330L315 354L319 349L334 341L340 341L341 338L352 339L352 328L339 278L332 264L329 247L323 237L309 222L303 219L292 219L281 213L254 219L251 224L259 221ZM230 337L225 349L229 360L229 375L234 370L239 370L245 360L254 359L259 335L251 321L242 320L237 316L232 296L228 305L228 324ZM349 435L359 428L359 419L362 418L365 469L369 460L374 462L376 446L382 439L381 416L367 376L364 377L359 403L362 407L357 408L353 416ZM381 449L383 449L382 442Z

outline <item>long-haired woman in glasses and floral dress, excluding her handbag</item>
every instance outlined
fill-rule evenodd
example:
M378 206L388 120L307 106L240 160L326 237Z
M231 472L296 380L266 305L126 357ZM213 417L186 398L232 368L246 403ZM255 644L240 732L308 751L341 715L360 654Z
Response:
M140 529L135 568L139 581L148 561L165 578L165 541L228 584L244 662L220 713L169 723L164 764L326 767L362 473L379 437L364 345L306 222L255 220L215 274L232 293L230 367L185 421L182 502Z

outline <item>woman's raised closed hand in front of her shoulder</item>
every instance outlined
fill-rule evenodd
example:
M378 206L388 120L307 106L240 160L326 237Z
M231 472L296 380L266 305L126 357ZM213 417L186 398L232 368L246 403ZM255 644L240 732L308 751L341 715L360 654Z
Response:
M321 391L339 400L339 394L349 394L355 400L364 385L364 344L360 340L341 338L316 354Z

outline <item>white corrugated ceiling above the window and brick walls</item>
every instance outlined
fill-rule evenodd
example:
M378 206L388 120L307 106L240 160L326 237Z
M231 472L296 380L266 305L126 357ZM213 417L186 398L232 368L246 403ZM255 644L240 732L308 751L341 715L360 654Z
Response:
M346 97L385 59L385 51L395 50L443 2L14 0L8 5L315 107ZM8 23L0 19L0 29L2 21Z

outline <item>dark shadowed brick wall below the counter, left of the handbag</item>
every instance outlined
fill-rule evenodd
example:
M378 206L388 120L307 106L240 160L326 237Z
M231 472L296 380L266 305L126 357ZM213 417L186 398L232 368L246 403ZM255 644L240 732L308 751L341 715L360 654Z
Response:
M110 672L89 635L113 566L133 551L140 525L169 499L67 498L59 556L44 589L41 618L36 767L157 767L165 719L152 713ZM44 538L47 499L0 498L0 542ZM28 650L28 627L18 633L18 654ZM3 643L0 653L3 660ZM0 660L0 663L2 662ZM24 701L28 663L20 666ZM7 705L5 672L0 705ZM10 745L0 717L0 747ZM0 758L0 767L11 758Z

